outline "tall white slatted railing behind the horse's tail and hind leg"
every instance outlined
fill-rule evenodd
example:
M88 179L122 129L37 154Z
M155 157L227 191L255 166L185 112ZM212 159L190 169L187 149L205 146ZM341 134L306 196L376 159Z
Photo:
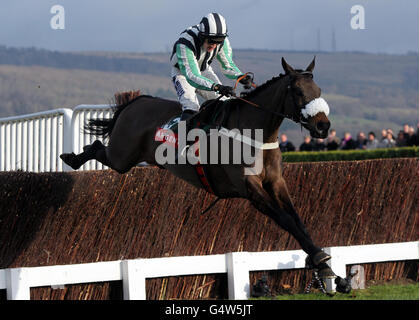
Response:
M101 138L85 134L90 118L110 118L109 105L79 105L74 110L55 109L0 119L0 171L31 172L72 170L60 159L62 153L80 153ZM79 170L106 169L88 161Z

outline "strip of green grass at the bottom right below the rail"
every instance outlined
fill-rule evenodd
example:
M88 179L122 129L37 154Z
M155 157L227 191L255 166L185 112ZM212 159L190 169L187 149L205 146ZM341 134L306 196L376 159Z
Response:
M419 300L419 284L383 284L370 286L364 290L352 290L349 294L336 293L328 296L321 292L308 294L286 294L274 300Z

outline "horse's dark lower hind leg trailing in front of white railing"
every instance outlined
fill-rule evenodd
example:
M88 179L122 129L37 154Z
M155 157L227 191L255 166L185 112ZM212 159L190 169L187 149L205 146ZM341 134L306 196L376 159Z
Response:
M82 153L77 155L74 153L63 153L60 155L60 158L74 170L79 169L89 160L97 160L105 166L112 168L106 156L106 147L99 140L96 140L91 145L84 146Z

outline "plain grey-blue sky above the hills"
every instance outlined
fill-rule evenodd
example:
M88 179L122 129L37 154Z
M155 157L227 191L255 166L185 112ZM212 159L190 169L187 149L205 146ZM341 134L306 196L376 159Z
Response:
M167 52L210 12L226 18L233 48L419 52L417 0L1 0L0 45Z

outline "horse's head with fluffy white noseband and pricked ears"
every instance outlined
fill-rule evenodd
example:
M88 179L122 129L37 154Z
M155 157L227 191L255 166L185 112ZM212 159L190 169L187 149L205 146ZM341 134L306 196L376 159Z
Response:
M326 138L330 128L329 106L320 97L321 90L313 80L315 58L305 71L294 70L284 58L282 67L289 76L285 111L310 131L313 138Z

